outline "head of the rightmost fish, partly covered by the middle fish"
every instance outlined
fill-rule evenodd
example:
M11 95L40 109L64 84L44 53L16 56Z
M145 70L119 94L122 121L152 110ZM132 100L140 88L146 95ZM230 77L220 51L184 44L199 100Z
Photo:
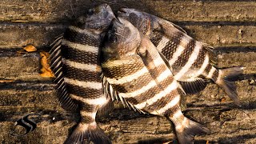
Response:
M142 34L146 35L150 34L151 27L154 22L149 14L129 8L122 8L118 10L118 17L128 20L137 27Z

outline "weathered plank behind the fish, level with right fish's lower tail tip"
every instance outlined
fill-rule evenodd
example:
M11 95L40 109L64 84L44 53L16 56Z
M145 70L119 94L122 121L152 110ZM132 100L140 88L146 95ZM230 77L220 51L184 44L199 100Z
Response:
M256 102L256 98L254 97L254 94L256 94L255 82L242 80L236 82L236 86L242 106L248 108L253 105L253 102ZM29 110L33 107L35 112L42 110L44 106L50 110L58 107L58 98L54 90L54 83L50 82L42 82L41 84L36 82L16 82L7 86L1 86L0 96L0 107L4 109L10 108L8 114L14 108L18 110L12 113L20 114L24 112L22 110ZM186 103L190 108L198 110L209 106L217 106L221 109L226 109L229 106L236 107L226 93L214 83L209 83L206 89L198 94L187 95ZM123 106L117 105L116 107L122 109ZM251 108L254 109L254 105Z

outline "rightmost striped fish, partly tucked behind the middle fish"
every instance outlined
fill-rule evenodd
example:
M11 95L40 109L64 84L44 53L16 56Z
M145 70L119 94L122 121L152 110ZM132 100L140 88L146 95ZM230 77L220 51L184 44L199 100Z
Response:
M139 10L122 8L118 17L125 18L154 43L170 65L174 78L182 84L187 94L195 94L206 87L211 79L240 105L234 78L242 74L245 67L234 66L219 69L213 47L198 42L179 26Z

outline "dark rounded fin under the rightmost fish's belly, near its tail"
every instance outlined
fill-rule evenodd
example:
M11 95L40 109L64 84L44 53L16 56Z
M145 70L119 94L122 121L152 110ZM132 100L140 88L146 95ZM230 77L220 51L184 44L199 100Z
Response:
M206 88L206 81L202 78L195 79L191 82L178 81L186 94L196 94Z

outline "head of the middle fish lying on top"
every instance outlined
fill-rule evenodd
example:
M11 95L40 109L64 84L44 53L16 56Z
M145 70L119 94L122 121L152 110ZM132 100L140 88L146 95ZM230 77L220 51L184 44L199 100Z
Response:
M141 42L138 29L123 18L114 18L102 48L103 58L122 59L136 54Z

